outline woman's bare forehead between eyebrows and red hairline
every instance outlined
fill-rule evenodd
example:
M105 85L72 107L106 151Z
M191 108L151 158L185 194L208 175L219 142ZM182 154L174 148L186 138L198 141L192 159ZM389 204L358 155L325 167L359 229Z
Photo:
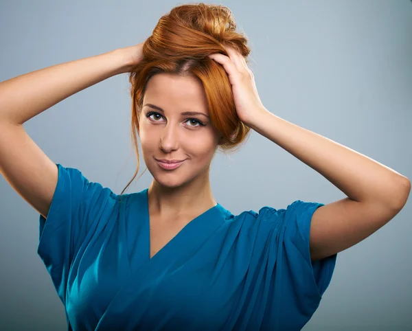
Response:
M157 73L146 86L144 103L149 102L165 109L196 107L207 111L207 98L202 82L192 75L177 76Z

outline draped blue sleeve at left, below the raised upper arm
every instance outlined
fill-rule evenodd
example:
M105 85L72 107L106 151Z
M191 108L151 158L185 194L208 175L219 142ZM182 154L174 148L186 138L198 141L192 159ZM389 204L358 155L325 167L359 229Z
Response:
M52 204L47 218L41 214L39 218L37 253L65 304L71 264L84 241L90 240L115 194L100 183L90 182L76 168L65 168L59 163L56 166L58 182Z

